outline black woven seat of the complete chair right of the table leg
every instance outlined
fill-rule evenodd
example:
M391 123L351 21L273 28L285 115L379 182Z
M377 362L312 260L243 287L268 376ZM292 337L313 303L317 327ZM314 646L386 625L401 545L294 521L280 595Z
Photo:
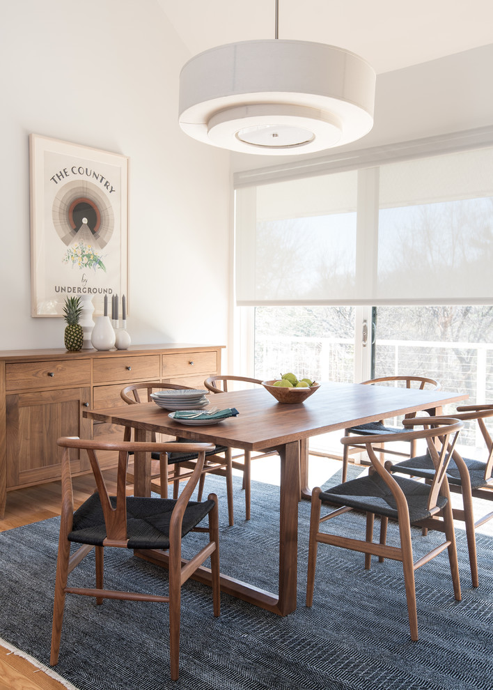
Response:
M431 460L431 459L430 459ZM433 472L435 474L435 470ZM405 495L409 508L409 521L414 523L430 517L428 510L428 498L430 487L422 482L406 479L405 477L394 477L400 489ZM335 505L349 505L352 508L370 511L378 515L385 515L395 520L398 519L396 499L393 493L377 474L331 486L328 491L320 493L322 503L334 503ZM447 500L444 496L439 496L437 505L440 508L446 506Z

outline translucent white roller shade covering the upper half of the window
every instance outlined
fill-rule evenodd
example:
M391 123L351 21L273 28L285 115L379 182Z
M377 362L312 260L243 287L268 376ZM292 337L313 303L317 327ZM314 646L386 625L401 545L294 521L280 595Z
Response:
M239 305L493 303L493 148L241 187Z

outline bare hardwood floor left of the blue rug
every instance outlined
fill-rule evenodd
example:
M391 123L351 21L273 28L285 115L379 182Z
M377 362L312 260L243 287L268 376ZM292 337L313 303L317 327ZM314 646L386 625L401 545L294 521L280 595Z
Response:
M106 470L104 478L110 491L113 486L116 490L116 470ZM74 477L72 486L75 505L79 506L88 496L91 496L95 489L93 475ZM60 514L60 503L60 482L9 491L5 518L0 520L0 532L55 517ZM49 645L49 640L47 640L47 645ZM56 668L54 671L56 672ZM11 654L0 645L0 690L63 689L64 686L57 680L43 673L26 659Z

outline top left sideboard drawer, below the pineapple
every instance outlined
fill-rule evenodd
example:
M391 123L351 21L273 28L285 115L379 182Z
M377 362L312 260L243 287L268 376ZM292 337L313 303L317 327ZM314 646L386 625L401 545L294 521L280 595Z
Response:
M6 364L6 390L33 390L87 385L91 360L51 360Z

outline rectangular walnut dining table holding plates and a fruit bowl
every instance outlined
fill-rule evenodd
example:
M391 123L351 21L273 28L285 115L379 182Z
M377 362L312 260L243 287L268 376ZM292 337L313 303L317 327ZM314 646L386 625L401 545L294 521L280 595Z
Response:
M322 383L302 404L280 404L264 388L211 394L212 398L215 406L236 408L239 414L216 424L188 426L170 419L169 413L154 403L143 403L85 411L84 416L132 427L135 440L150 440L152 432L156 432L251 452L276 450L281 458L278 592L267 592L227 574L221 574L221 590L273 613L288 615L297 605L298 503L303 496L310 496L309 438L418 411L439 415L444 405L462 401L467 394ZM149 454L136 454L134 458L134 493L150 496ZM166 565L163 552L138 555ZM210 583L210 570L202 568L195 578Z

